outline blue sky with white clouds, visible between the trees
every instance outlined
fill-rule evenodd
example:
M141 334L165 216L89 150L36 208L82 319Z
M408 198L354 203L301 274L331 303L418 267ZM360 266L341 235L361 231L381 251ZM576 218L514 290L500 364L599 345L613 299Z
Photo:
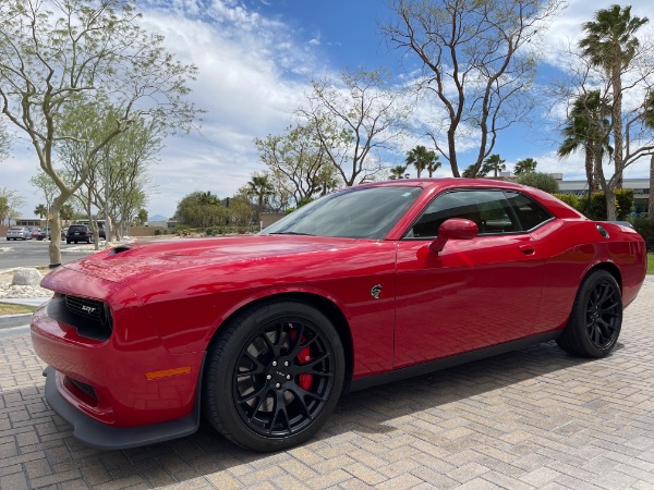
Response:
M535 90L545 93L552 79L565 75L564 48L582 36L581 24L592 20L595 10L614 2L567 2L543 35ZM168 138L152 164L150 217L172 217L179 200L195 191L231 196L253 172L264 171L254 139L281 134L295 122L294 110L305 100L312 77L385 68L401 83L417 68L379 32L378 25L391 15L385 0L140 0L137 4L144 26L165 36L166 49L198 68L190 99L206 111L198 132ZM651 38L654 2L633 0L631 5L632 15L652 20L641 33ZM531 157L538 171L584 179L583 155L566 160L556 156L561 117L560 107L541 108L530 124L500 133L493 152L506 160L509 170ZM431 142L416 135L404 142L404 148L416 144L429 147ZM389 167L404 158L401 151L384 155ZM33 218L34 208L45 201L29 184L37 170L34 148L15 134L11 156L0 162L0 187L25 197L23 218ZM626 171L626 177L647 175L649 159ZM451 176L449 164L436 176Z

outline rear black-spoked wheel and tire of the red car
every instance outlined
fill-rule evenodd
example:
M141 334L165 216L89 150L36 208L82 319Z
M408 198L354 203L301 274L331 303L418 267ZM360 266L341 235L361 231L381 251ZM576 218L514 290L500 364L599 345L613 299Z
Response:
M577 356L603 357L616 346L621 327L620 286L609 272L595 270L581 283L570 320L556 342Z

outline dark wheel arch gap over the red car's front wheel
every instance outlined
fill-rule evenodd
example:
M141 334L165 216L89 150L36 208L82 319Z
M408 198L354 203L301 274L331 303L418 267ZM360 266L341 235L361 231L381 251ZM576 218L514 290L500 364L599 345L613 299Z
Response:
M352 373L354 372L354 342L352 340L352 333L350 331L350 323L348 322L348 319L346 318L343 311L338 307L336 303L334 303L329 298L326 298L325 296L320 296L319 294L306 292L283 292L271 294L268 296L263 296L253 299L250 303L241 305L238 309L231 311L230 315L226 317L223 321L216 328L214 334L211 335L211 340L207 343L206 351L208 352L211 347L211 344L214 344L220 339L220 327L222 324L228 323L232 318L243 314L244 311L256 309L257 307L266 303L276 301L295 301L307 304L314 307L316 310L320 311L329 319L329 321L338 332L341 344L343 346L343 354L346 358L343 392L347 393L350 390Z

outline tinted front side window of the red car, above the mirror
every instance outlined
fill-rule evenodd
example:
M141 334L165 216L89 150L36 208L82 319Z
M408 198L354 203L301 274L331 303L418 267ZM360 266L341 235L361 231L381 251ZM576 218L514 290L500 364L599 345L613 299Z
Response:
M473 221L480 235L520 231L514 213L500 191L452 191L437 196L413 224L408 238L433 238L450 218Z

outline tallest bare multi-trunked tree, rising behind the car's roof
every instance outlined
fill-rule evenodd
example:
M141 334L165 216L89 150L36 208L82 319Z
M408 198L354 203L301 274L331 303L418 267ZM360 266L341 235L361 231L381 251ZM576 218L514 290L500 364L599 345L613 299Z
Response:
M479 140L472 163L475 176L498 133L532 109L536 63L528 45L560 4L560 0L391 0L397 19L383 32L391 46L422 62L416 89L433 102L438 121L426 133L455 176L460 176L462 140L470 140L471 134Z

